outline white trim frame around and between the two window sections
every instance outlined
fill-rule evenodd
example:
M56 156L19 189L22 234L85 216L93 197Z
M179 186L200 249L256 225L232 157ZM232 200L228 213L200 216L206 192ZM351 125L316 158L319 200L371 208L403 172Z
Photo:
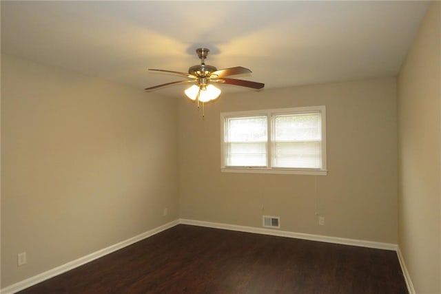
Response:
M321 169L301 169L301 168L284 168L271 167L271 117L275 114L292 114L292 113L311 113L320 112L322 122L322 168ZM268 140L267 140L267 167L227 167L225 166L225 118L243 117L243 116L267 116L268 123ZM299 174L299 175L327 175L327 159L326 159L326 107L325 105L310 107L292 107L280 109L263 109L241 112L222 112L220 113L220 171L223 173L250 173L250 174Z

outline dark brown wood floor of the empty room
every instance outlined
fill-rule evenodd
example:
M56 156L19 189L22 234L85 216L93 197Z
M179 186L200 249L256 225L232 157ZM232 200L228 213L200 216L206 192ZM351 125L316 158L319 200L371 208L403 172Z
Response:
M396 252L178 225L20 293L407 293Z

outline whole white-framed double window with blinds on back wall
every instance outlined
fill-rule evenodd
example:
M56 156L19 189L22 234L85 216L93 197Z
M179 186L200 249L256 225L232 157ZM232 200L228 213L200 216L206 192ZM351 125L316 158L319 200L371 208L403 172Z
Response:
M325 106L220 114L224 172L326 174Z

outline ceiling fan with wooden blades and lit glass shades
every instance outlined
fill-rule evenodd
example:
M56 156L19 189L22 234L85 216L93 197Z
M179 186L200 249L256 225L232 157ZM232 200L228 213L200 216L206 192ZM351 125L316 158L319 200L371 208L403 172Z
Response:
M185 90L185 95L187 95L193 101L197 101L199 107L200 102L204 104L218 98L218 96L220 95L220 90L214 87L214 85L212 85L213 83L237 85L242 87L249 87L256 90L260 90L265 87L265 84L263 83L244 81L237 78L227 78L227 76L234 76L236 74L250 74L252 71L242 66L229 67L223 70L218 70L212 65L205 64L205 59L207 58L208 52L209 50L207 48L196 49L196 53L198 54L199 59L201 59L201 64L189 67L188 73L174 72L172 70L155 70L149 68L149 70L156 72L178 74L180 76L185 76L188 79L156 85L153 87L147 87L145 88L145 91L150 91L158 87L165 87L169 85L193 83L194 85L192 85L192 87L189 87L187 90Z

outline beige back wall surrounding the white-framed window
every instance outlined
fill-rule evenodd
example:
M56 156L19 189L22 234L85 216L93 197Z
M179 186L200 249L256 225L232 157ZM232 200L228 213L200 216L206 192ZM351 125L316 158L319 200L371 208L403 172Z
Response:
M221 95L205 120L182 99L181 218L396 243L396 102L395 78ZM309 105L327 107L327 176L220 172L220 112Z

